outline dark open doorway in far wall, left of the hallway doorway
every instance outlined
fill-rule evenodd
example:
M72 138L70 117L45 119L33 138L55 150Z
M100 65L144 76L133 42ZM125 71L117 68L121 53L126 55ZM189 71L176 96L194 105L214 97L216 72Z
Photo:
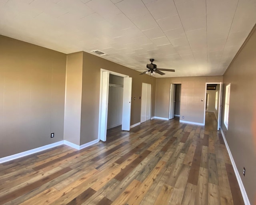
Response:
M180 95L181 84L171 84L169 119L174 118L174 116L180 116Z

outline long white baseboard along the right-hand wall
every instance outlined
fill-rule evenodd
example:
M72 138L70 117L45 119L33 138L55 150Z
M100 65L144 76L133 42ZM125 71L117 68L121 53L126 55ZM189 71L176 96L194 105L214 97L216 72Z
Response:
M241 177L240 177L240 174L239 174L239 172L238 172L238 170L237 170L236 163L235 163L234 158L233 158L233 156L232 156L232 154L231 154L231 151L230 151L230 149L229 149L229 147L228 147L228 142L227 142L227 140L226 140L226 137L225 137L225 135L224 135L224 132L223 132L222 128L220 128L220 132L221 132L221 134L222 134L223 140L224 140L225 145L226 145L226 148L227 148L227 150L228 150L228 155L229 155L231 164L232 164L232 166L233 166L233 169L234 169L234 172L235 172L235 175L236 175L236 179L237 179L237 181L238 181L238 185L239 185L239 187L240 187L240 190L241 190L241 193L242 193L242 196L243 196L243 199L244 199L244 204L245 204L245 205L250 205L250 201L249 201L248 196L247 196L247 193L246 193L246 191L245 191L245 189L244 189L244 184L243 184L242 179L241 179Z

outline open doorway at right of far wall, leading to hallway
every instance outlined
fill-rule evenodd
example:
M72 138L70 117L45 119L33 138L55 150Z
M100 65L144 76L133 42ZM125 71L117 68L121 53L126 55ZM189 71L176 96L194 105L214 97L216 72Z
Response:
M205 87L205 106L204 106L204 124L206 115L208 120L216 120L217 130L220 128L222 83L206 83Z

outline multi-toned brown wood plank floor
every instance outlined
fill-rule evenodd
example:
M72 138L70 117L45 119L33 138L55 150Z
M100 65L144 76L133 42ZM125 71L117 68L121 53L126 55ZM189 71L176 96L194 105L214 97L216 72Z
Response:
M212 112L206 126L150 120L0 164L0 204L243 205L216 126Z

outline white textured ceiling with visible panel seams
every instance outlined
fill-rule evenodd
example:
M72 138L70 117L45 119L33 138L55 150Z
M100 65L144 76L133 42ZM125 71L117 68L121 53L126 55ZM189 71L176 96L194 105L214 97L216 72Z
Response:
M176 70L155 77L222 75L255 23L256 0L0 0L1 35Z

